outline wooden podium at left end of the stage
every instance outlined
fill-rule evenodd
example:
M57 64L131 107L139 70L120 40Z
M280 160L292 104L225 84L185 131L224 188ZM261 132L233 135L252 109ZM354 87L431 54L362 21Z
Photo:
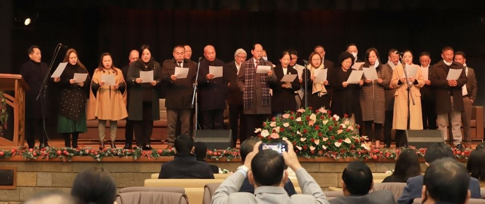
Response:
M7 105L14 109L14 137L12 141L0 137L0 149L23 147L25 140L25 91L29 90L29 86L19 74L0 73L0 90L14 91L14 96L3 93Z

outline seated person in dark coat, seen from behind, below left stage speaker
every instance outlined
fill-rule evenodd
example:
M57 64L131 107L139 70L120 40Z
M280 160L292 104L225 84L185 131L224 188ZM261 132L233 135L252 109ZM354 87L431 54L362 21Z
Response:
M214 178L209 163L194 155L194 139L188 134L175 138L174 160L162 164L158 178Z

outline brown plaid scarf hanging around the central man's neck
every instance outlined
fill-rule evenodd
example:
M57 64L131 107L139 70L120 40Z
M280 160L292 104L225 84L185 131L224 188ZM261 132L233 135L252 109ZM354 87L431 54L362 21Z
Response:
M254 58L246 60L244 63L246 65L244 70L244 93L242 93L242 102L244 104L244 108L253 108L253 95L256 85L256 75L259 75L259 77L261 78L261 86L258 87L262 89L261 103L263 106L271 105L268 74L256 73L256 69L254 67ZM258 66L269 66L269 63L264 59L259 59Z

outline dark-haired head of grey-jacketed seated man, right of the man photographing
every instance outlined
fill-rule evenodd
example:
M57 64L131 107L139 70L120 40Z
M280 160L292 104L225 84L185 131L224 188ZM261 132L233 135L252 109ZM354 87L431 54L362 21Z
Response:
M362 161L352 161L343 170L344 195L366 195L374 184L371 169Z

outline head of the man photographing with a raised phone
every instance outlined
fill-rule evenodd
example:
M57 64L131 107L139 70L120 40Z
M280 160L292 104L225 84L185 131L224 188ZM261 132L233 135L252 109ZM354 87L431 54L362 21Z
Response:
M282 186L288 179L283 156L271 149L259 151L251 161L248 178L249 182L257 187Z

